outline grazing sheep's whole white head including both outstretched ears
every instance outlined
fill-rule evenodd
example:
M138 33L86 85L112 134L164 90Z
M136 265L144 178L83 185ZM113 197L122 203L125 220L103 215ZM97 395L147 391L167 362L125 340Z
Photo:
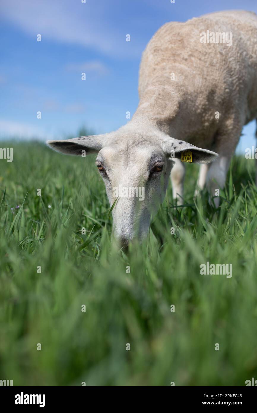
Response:
M212 161L217 154L168 136L119 133L47 142L66 154L97 152L96 167L113 206L113 236L126 247L148 233L151 215L163 201L172 169L172 158L190 150L193 161Z

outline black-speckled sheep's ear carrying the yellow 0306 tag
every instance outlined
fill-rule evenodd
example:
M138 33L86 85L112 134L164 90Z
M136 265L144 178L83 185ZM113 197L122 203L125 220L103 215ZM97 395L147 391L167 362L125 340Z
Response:
M183 154L186 154L187 151L191 151L192 162L197 164L208 164L219 156L216 152L198 148L197 146L191 145L191 143L184 142L184 140L174 138L163 140L162 146L164 152L171 158L181 159Z

